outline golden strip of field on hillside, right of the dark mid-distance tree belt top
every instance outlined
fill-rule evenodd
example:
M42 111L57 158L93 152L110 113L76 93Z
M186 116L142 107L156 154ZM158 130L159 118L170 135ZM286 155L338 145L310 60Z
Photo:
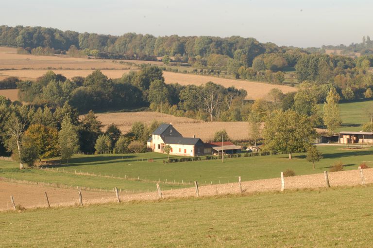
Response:
M194 75L194 74L182 74L164 71L163 76L167 83L179 83L181 85L203 85L209 81L216 84L220 84L224 87L235 86L237 89L245 89L247 91L246 99L255 100L260 98L266 98L268 92L271 89L277 88L285 94L288 92L296 91L296 88L284 86L284 85L271 85L269 83L261 83L254 81L234 80L226 79L221 77Z

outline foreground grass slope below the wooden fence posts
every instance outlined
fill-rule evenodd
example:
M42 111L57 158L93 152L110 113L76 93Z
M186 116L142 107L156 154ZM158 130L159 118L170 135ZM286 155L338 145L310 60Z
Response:
M1 247L371 247L373 186L0 213Z

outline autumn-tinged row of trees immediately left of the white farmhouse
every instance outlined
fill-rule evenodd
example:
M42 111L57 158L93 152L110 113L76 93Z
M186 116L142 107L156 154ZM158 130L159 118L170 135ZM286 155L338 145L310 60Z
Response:
M51 109L21 106L0 97L0 155L12 154L14 159L32 166L36 160L74 153L129 153L146 151L146 141L159 123L150 126L135 123L122 134L110 124L103 132L102 123L93 111L79 119L76 109L67 103Z

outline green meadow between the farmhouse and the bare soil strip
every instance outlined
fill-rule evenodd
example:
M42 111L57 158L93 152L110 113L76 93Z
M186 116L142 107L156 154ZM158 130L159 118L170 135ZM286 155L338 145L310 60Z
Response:
M292 169L296 175L322 173L336 161L342 161L345 170L357 169L361 162L366 162L373 167L373 150L371 148L348 150L344 146L319 146L324 159L316 163L316 170L312 170L311 163L305 160L305 154L294 154L294 159L289 160L288 155L262 156L250 158L206 160L193 162L179 162L164 164L167 155L159 153L126 154L126 155L104 155L87 156L76 155L70 159L68 165L59 166L59 172L46 170L18 170L15 162L0 161L0 177L16 178L19 180L30 180L38 182L59 183L73 186L97 187L112 189L118 187L142 191L149 189L155 191L155 181L163 182L163 189L190 187L190 185L179 185L197 180L201 185L206 183L218 184L237 181L241 176L243 181L279 177L281 171ZM123 159L122 159L123 157ZM147 159L153 158L153 162ZM62 173L68 170L72 173ZM94 173L102 176L113 175L114 177L140 178L137 180L125 180L109 177L94 177L74 175L74 171ZM166 181L169 182L165 184ZM176 184L172 185L175 180Z

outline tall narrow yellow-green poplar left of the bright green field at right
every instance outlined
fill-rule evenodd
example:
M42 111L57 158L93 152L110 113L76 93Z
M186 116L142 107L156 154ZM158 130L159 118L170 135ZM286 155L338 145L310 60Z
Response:
M328 132L334 134L336 129L342 124L339 111L339 94L335 88L331 88L324 103L324 124L326 125Z

